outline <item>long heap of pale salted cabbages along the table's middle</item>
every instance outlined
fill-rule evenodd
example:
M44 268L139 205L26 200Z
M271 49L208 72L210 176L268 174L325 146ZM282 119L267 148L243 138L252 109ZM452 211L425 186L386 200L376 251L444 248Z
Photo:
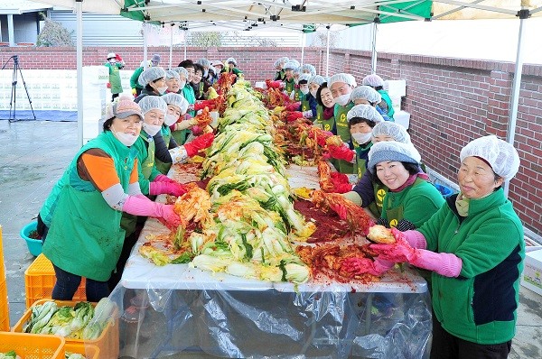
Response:
M196 254L190 265L263 281L307 281L310 270L292 242L305 241L315 226L294 210L273 121L246 81L231 87L227 101L203 162L213 220L188 237Z

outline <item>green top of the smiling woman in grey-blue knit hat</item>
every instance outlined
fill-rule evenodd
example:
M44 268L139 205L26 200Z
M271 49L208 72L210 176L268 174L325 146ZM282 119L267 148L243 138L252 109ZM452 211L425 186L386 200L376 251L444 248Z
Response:
M397 226L401 219L406 219L419 228L443 204L443 195L433 183L418 178L411 186L400 192L388 189L382 203L382 218L388 219L389 226L392 227Z

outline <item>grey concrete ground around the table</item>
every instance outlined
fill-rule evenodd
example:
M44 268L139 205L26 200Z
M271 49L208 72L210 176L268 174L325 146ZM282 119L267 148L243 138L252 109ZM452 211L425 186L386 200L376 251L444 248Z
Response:
M12 326L25 310L24 271L34 259L19 231L37 216L77 152L77 137L75 122L0 121L0 225ZM523 287L519 296L517 334L509 358L542 358L542 297Z

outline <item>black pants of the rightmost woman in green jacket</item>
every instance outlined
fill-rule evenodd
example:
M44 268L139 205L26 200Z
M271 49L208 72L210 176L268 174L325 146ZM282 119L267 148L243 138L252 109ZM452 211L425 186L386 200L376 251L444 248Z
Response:
M505 359L512 341L494 345L472 343L453 336L441 326L433 315L433 345L431 359Z

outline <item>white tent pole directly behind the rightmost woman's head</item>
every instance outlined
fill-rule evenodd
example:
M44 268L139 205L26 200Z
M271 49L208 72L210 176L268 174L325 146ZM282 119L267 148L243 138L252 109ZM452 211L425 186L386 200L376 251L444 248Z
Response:
M507 142L512 146L516 137L516 117L518 116L519 89L521 87L521 74L523 71L523 32L525 31L525 19L530 16L528 10L519 11L519 32L518 32L518 50L516 52L516 69L514 70L514 81L512 85L512 96L510 97L509 128L507 133ZM508 198L509 181L504 183L504 195Z

